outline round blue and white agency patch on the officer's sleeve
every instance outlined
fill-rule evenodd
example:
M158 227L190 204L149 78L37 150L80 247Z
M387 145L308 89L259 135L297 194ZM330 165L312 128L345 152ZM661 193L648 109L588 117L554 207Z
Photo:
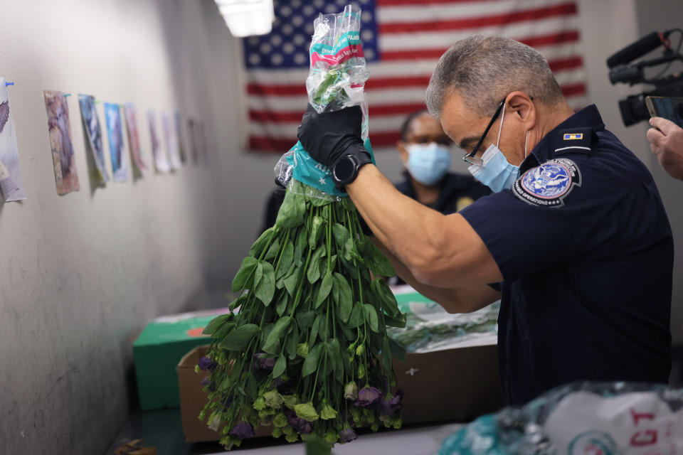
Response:
M562 207L574 186L581 186L581 171L571 159L551 159L529 169L514 182L512 193L531 205Z

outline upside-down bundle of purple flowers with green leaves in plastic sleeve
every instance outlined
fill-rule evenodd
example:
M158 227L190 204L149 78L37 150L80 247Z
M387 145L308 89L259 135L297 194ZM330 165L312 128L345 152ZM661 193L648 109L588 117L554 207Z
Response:
M362 105L367 139L359 28L360 11L351 6L314 21L307 90L321 112ZM362 232L351 200L301 144L275 170L287 184L277 221L233 279L235 311L204 331L212 344L197 368L211 374L199 418L223 434L226 449L259 425L290 442L315 435L328 444L355 439L354 427L398 428L402 394L391 390L391 358L405 351L386 326L406 320L386 282L374 278L393 268Z

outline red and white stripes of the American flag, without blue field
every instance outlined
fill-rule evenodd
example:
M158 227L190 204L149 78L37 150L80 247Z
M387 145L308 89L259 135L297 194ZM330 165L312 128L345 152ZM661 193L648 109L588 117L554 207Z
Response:
M570 105L588 104L575 1L376 0L376 15L381 60L369 63L366 83L376 149L393 146L406 114L424 108L438 58L475 33L514 38L538 49ZM307 68L248 70L250 149L284 152L295 144L307 103L307 75Z

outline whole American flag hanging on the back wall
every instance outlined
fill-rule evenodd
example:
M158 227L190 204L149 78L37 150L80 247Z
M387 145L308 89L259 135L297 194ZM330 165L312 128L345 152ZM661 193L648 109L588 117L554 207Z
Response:
M370 70L366 94L374 149L393 146L407 114L425 107L439 57L480 33L514 38L544 55L575 109L588 103L576 1L274 0L272 33L244 40L251 151L284 153L297 141L306 108L313 20L346 4L362 9L361 41ZM486 87L482 87L486 90Z

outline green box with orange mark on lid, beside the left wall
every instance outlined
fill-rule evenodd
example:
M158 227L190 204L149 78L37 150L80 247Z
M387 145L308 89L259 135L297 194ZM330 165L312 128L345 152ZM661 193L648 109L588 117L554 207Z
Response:
M133 343L140 409L179 407L179 360L189 350L208 343L206 324L227 308L162 316L147 324Z

